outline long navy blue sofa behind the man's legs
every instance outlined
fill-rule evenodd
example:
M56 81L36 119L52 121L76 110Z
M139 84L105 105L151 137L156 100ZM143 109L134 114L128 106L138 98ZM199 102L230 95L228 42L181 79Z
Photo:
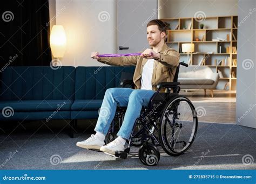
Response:
M120 87L135 67L8 67L0 86L0 121L98 118L106 89Z

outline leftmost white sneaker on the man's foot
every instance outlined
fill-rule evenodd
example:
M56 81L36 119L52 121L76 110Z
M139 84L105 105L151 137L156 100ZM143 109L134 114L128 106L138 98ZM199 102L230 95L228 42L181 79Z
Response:
M99 140L98 136L91 135L88 139L84 141L77 142L77 146L86 149L99 150L100 147L104 146L104 141Z

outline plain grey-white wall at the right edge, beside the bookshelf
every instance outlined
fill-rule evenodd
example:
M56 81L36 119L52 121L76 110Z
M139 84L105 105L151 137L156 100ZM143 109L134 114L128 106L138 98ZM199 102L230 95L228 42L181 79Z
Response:
M256 1L239 1L237 124L256 128Z

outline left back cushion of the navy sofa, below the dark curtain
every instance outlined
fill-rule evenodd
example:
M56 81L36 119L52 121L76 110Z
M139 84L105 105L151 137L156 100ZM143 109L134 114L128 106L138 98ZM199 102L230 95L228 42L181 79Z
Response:
M0 100L73 100L75 67L8 67L0 82Z

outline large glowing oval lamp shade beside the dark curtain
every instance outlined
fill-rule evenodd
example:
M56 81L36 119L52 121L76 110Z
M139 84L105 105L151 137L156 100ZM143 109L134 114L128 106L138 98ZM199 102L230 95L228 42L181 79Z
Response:
M63 58L66 50L66 34L62 25L54 25L50 35L51 52L55 58Z

